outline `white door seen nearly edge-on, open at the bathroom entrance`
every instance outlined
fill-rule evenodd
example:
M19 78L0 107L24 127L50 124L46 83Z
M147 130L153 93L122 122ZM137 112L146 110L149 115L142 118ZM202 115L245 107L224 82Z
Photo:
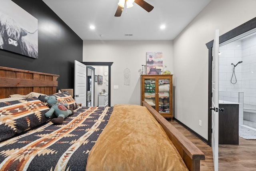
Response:
M214 171L219 157L219 30L215 31L212 48L212 155Z

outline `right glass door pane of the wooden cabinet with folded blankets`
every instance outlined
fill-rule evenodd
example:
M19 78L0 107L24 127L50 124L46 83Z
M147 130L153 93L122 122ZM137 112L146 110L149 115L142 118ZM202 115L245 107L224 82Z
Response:
M159 113L170 113L170 79L158 80Z

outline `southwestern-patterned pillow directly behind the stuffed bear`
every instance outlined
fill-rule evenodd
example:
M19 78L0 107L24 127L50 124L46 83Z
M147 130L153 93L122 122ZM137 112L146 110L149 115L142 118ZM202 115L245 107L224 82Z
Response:
M73 97L69 93L63 92L63 93L58 93L53 95L58 99L59 103L68 103L68 106L67 106L68 109L74 110L78 108L76 101L73 99ZM51 95L40 95L38 99L40 99L44 103L44 105L49 107L49 105L47 104L47 100L44 99L45 97L49 97L49 96Z

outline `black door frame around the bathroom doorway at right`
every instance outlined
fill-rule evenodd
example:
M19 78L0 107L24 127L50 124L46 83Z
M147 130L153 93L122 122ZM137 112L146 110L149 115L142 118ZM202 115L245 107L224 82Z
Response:
M256 17L244 24L226 32L225 34L219 37L219 44L226 42L236 36L244 34L252 29L256 28ZM212 106L212 47L213 40L206 43L208 48L208 145L212 146L212 111L210 107Z

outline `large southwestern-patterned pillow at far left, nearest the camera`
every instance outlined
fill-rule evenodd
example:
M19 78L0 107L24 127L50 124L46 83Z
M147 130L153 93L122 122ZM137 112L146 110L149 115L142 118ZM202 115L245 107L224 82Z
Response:
M0 141L50 121L48 110L36 97L0 102Z

